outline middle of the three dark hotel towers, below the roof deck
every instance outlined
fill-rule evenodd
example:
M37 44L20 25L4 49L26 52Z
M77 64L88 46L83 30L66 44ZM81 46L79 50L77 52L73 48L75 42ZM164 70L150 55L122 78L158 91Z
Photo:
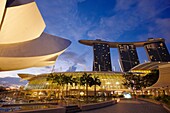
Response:
M139 64L136 46L133 44L119 44L119 56L121 68L124 72Z

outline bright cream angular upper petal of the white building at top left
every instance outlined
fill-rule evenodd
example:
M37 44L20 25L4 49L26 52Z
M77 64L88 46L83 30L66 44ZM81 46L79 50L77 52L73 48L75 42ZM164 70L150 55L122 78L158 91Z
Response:
M33 40L45 29L44 20L35 2L6 8L1 25L0 44Z

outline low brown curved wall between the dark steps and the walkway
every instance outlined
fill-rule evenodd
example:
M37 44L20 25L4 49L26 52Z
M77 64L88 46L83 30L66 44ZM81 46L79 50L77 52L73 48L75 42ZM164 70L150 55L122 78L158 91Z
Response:
M86 105L82 105L80 107L80 109L82 111L88 111L88 110L92 110L92 109L98 109L98 108L102 108L102 107L106 107L106 106L110 106L113 104L116 104L117 101L107 101L107 102L101 102L101 103L92 103L92 104L86 104Z

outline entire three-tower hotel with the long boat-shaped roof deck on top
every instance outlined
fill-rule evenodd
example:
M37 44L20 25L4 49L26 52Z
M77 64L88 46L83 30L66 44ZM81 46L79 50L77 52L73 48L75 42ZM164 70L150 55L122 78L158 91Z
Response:
M79 40L80 43L93 46L93 71L112 71L110 48L118 48L121 68L129 71L140 63L137 47L144 47L151 62L169 62L170 55L163 38L149 38L144 42L108 42L97 40Z

